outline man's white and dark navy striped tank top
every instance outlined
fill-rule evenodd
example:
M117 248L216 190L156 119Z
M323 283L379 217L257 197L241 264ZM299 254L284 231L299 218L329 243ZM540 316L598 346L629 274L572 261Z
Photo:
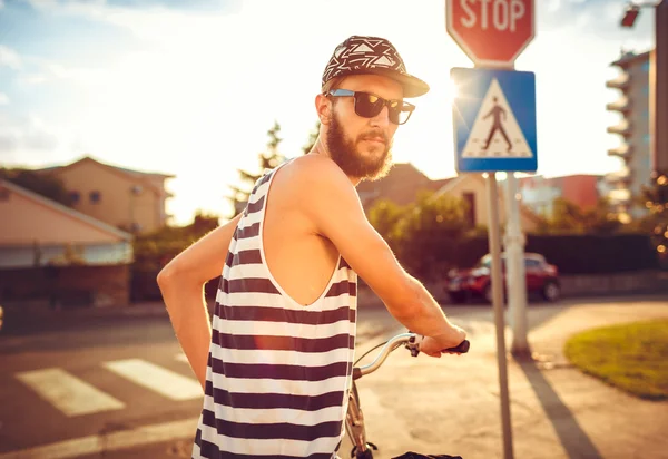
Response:
M229 245L194 459L331 459L345 431L357 275L340 256L328 285L307 306L274 280L262 234L281 167L256 182Z

